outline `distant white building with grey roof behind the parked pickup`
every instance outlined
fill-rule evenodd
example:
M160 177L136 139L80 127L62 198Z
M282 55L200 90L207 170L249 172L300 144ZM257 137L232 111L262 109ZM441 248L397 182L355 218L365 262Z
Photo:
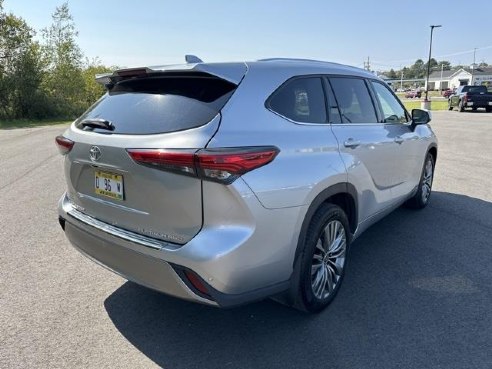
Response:
M462 85L492 85L492 67L459 68L452 70L437 70L429 76L429 90L444 90Z

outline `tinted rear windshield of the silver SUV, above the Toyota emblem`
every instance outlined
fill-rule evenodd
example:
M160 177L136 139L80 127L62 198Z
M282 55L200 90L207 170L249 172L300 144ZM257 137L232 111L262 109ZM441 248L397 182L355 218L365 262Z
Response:
M202 126L223 108L237 86L213 76L158 76L118 82L75 122L83 130L155 134ZM103 119L114 130L84 127Z

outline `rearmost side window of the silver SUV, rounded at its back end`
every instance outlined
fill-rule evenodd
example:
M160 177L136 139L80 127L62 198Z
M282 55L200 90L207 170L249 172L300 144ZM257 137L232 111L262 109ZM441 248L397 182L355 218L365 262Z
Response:
M274 112L301 123L327 123L321 78L296 78L283 84L267 102Z

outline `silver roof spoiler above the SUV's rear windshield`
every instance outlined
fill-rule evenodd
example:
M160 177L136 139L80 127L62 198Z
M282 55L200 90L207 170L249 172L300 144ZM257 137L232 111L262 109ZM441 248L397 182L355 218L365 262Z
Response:
M196 57L195 57L196 58ZM119 69L113 73L96 74L96 82L110 89L115 83L128 78L141 77L152 74L165 74L176 72L200 72L224 79L238 85L246 74L248 67L246 63L203 63L198 62L198 58L186 58L195 63L162 65L145 68Z

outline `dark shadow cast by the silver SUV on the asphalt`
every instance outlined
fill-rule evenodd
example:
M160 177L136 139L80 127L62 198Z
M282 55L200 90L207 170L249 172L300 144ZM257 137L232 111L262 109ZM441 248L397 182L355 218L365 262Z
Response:
M220 310L130 282L104 306L165 368L478 368L490 362L491 230L492 203L463 195L400 208L354 242L318 315L270 300Z

